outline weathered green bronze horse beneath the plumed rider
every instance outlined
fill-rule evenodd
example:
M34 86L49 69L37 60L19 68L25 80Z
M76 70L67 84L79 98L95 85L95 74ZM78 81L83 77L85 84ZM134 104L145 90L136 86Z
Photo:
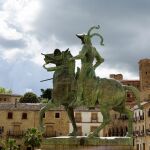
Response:
M78 107L76 98L80 72L78 70L75 74L75 60L72 59L73 56L69 50L61 52L56 49L52 54L43 55L45 56L45 64L43 67L47 71L54 71L54 75L52 100L40 111L40 126L41 128L43 127L43 115L45 111L51 107L63 105L73 126L73 131L70 135L76 136L77 126L74 118L74 108ZM56 67L46 67L47 64L55 64ZM94 86L96 89L93 90L95 93L92 93L93 91L91 89L88 90L89 86L87 86L87 90L89 95L96 95L96 98L89 99L84 96L83 105L87 107L94 107L98 105L103 116L103 122L93 131L93 133L89 135L89 137L99 136L98 133L100 130L111 122L110 110L127 115L128 136L131 136L133 113L125 107L126 92L127 90L133 92L136 97L137 104L141 108L139 91L133 86L122 85L120 82L113 79L96 77L92 80L92 82L96 84L96 86Z

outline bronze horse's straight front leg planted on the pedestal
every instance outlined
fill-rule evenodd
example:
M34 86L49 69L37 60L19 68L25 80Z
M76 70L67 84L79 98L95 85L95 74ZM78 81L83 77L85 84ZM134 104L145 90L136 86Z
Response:
M68 117L72 123L73 131L69 133L69 136L76 136L77 135L77 125L74 118L74 109L72 107L65 106L65 110L67 111Z

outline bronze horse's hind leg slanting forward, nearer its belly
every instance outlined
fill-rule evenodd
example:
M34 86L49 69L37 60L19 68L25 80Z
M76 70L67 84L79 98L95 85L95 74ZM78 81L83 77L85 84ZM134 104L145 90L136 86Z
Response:
M102 113L102 116L103 116L103 122L99 127L97 127L93 131L93 133L89 134L88 137L99 137L99 132L111 121L110 114L109 114L109 108L100 108L100 112Z

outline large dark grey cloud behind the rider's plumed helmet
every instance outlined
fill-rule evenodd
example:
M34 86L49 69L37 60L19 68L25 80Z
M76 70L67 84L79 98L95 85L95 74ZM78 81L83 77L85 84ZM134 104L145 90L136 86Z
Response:
M149 47L143 49L137 39L139 30L146 33L149 29L149 4L148 0L63 0L59 3L47 0L43 3L40 21L37 20L36 34L41 39L54 34L68 46L79 45L75 34L100 24L105 47L97 45L97 49L103 49L100 53L104 63L137 74L139 59L149 55Z

